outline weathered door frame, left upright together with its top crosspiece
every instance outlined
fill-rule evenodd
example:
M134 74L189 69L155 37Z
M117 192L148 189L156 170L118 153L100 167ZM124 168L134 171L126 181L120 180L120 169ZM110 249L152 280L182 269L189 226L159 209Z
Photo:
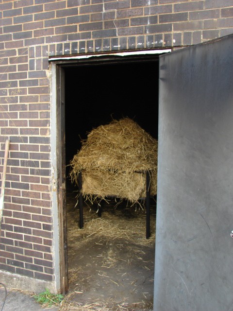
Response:
M65 294L68 290L64 68L79 65L93 66L122 63L124 61L135 63L149 60L158 61L158 55L165 52L171 52L171 50L50 58L52 216L55 290L57 293Z

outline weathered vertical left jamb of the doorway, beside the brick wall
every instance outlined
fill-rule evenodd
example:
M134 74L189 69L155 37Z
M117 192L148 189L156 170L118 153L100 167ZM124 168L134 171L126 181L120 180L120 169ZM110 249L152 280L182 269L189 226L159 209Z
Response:
M54 290L68 289L66 165L65 165L65 72L51 63L51 183L53 219ZM64 104L62 104L64 103Z

